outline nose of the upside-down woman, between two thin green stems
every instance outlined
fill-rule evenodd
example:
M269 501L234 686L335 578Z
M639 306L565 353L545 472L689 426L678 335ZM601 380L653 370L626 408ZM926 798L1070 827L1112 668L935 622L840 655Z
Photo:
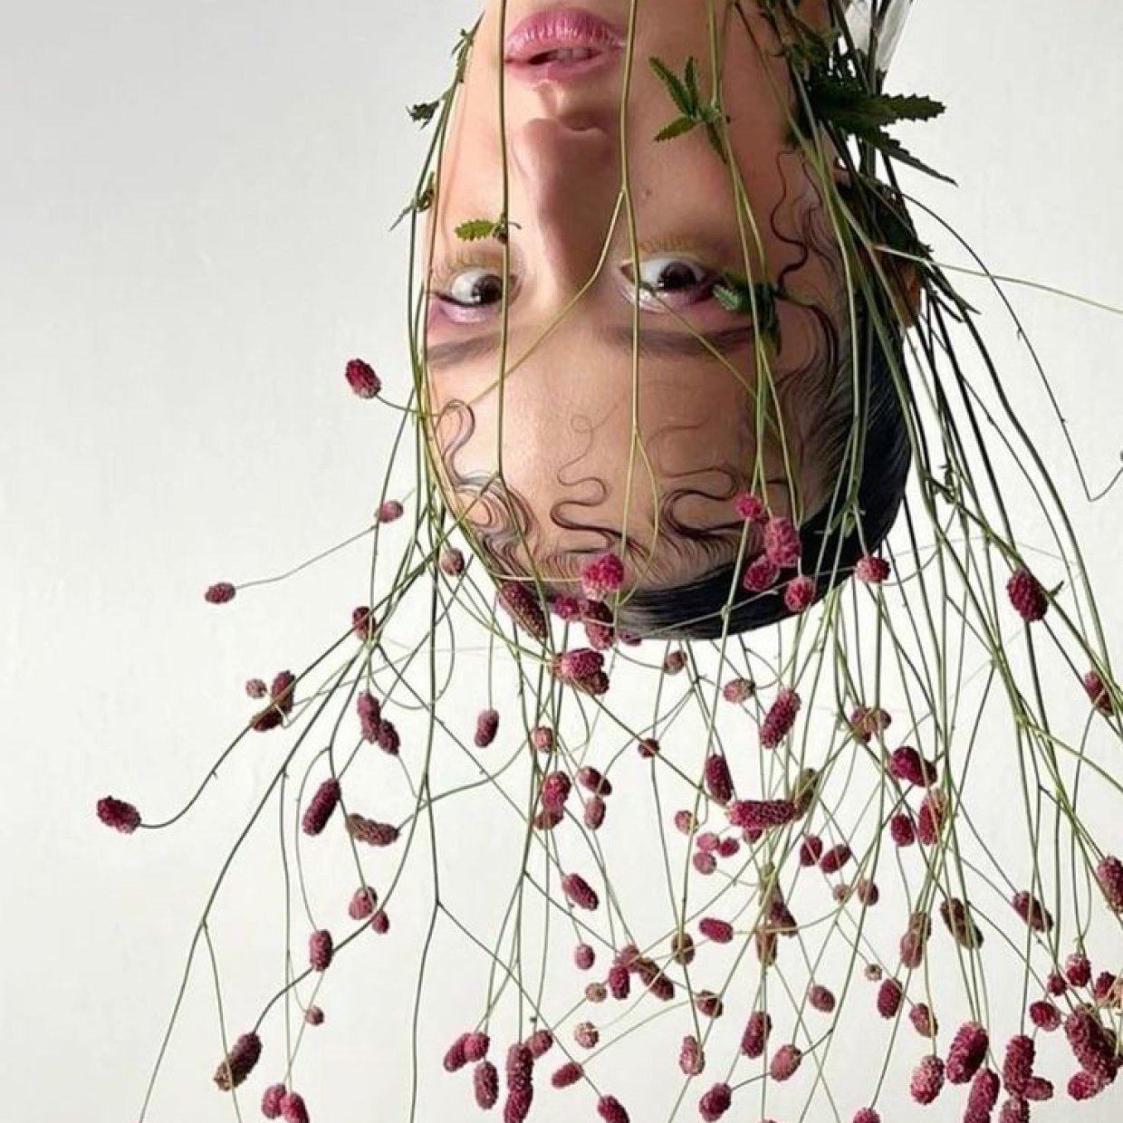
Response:
M596 268L612 220L617 145L592 118L537 118L513 130L510 153L536 272L551 301L568 300Z

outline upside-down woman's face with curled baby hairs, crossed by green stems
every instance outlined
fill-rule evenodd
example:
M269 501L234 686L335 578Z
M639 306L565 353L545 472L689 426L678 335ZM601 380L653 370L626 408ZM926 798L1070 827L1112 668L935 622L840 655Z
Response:
M626 44L628 0L583 6ZM623 46L604 48L584 73L505 63L504 42L523 20L559 10L548 0L509 0L505 19L490 0L476 33L428 227L428 405L447 497L485 542L515 517L524 539L508 533L508 549L492 553L522 574L572 578L583 556L626 533L629 583L678 584L731 558L739 523L730 497L755 469L779 511L798 518L827 497L815 435L837 366L831 239L813 174L788 140L787 65L773 31L752 4L743 17L720 0L712 7L732 167L701 127L652 139L677 111L650 57L681 75L693 56L709 101L711 3L643 0L636 20L627 192L639 280L674 312L637 296L629 266ZM510 250L502 378L503 246L455 234L503 211L501 72ZM747 200L740 218L734 175ZM752 317L710 291L722 270L745 274L746 262L754 281L782 282L788 298L777 303L779 349L760 345L770 384L759 376ZM715 536L724 551L716 559L697 545Z

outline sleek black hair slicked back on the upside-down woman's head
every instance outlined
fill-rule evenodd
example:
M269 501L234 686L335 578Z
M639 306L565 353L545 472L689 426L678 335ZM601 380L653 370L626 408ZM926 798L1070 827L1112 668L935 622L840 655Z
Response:
M898 390L893 375L894 366L903 369L903 347L893 320L883 322L884 341L868 316L858 318L858 374L851 384L857 401L850 436L859 441L861 454L853 505L840 494L844 491L842 478L840 490L800 526L804 572L815 581L815 600L844 581L858 558L882 542L904 497L912 446L902 405L904 391ZM733 634L791 615L782 585L750 593L741 588L739 577L738 566L730 563L681 585L637 588L618 609L617 623L645 636L715 639L727 629Z

